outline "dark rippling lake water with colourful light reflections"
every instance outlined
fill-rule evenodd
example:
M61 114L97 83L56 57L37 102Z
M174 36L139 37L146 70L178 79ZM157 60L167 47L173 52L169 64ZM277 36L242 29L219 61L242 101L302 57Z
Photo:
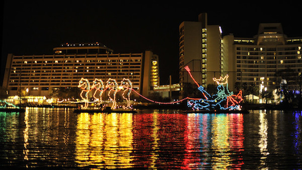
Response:
M0 169L302 168L302 113L0 112Z

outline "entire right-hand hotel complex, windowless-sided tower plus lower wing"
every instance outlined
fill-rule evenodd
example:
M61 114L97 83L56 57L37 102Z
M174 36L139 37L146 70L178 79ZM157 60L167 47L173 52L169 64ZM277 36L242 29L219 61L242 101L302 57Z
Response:
M221 34L219 25L207 24L206 13L198 16L198 22L184 21L179 25L180 98L184 98L185 84L194 84L184 69L186 65L203 87L213 83L213 77L229 74L231 91L236 82L274 90L282 81L276 73L290 68L287 86L298 89L302 37L287 37L280 23L259 24L258 34L251 38Z

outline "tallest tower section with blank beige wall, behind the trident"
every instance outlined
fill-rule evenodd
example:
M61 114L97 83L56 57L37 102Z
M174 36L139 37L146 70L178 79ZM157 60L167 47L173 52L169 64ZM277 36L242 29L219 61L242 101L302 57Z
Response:
M195 80L206 87L212 78L221 75L221 28L207 25L207 14L198 16L198 22L184 21L179 26L179 82L180 98L184 97L186 83L194 83L184 69L189 66Z

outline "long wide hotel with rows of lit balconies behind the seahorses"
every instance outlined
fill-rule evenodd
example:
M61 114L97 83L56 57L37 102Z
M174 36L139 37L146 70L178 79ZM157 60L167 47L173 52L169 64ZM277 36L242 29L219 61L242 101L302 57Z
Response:
M8 54L3 87L10 96L28 89L29 96L49 97L53 90L77 87L81 77L92 81L109 78L118 83L132 81L133 89L145 96L159 86L158 55L145 53L113 53L100 43L61 44L52 55ZM145 77L145 78L143 78Z

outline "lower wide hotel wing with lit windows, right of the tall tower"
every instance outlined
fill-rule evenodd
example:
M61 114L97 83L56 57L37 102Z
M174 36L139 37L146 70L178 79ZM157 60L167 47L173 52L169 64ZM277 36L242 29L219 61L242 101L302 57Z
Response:
M229 78L231 82L274 90L285 78L289 89L298 88L296 78L302 72L302 37L287 37L280 23L260 24L253 38L226 35L222 44L223 58L227 59L222 70L236 72ZM281 77L281 74L288 76ZM229 84L234 89L234 83Z

